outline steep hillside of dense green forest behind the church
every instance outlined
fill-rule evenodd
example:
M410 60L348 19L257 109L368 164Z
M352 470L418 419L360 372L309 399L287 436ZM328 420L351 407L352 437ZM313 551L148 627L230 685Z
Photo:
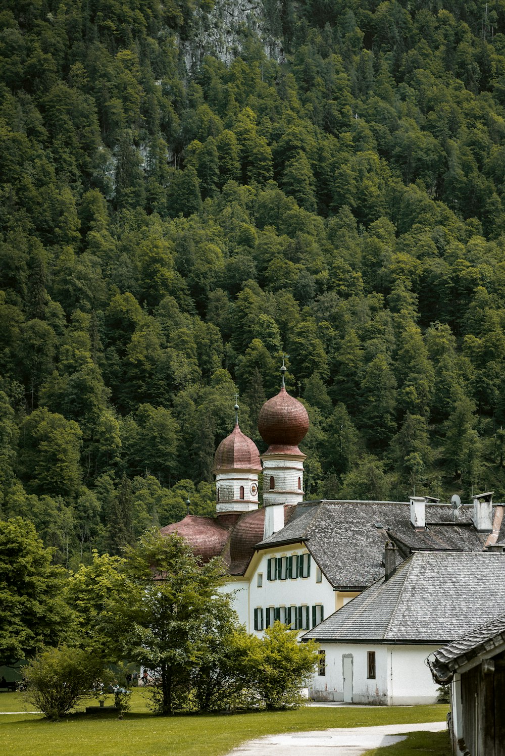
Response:
M308 497L505 495L505 2L263 5L2 2L0 506L64 564L212 513L283 352Z

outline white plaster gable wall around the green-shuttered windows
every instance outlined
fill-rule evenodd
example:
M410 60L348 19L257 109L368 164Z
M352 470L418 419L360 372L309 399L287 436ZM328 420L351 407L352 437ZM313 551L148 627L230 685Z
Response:
M322 604L324 608L324 617L329 617L335 611L335 592L333 587L322 575L321 583L316 583L317 564L311 557L311 574L309 578L291 578L288 580L267 580L267 559L274 556L296 556L296 554L307 553L304 547L283 547L280 549L269 549L262 553L259 564L252 573L249 587L249 631L254 633L254 609L261 606L266 609L268 606L309 606L309 622L312 624L312 606ZM258 573L263 575L262 587L258 587ZM301 633L306 631L301 631ZM256 631L258 636L262 631Z

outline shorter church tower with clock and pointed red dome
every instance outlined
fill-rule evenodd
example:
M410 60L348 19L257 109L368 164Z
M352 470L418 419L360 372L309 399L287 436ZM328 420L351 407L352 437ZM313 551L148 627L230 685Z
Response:
M262 463L251 438L238 425L235 404L235 427L218 445L214 456L216 511L219 514L250 512L258 509L258 473Z

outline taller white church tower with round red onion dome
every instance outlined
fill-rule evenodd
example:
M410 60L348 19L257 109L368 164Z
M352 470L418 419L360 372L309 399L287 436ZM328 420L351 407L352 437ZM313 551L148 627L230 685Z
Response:
M260 435L268 444L262 455L264 538L284 527L284 504L296 504L303 499L306 457L298 445L308 431L308 414L303 404L286 391L284 365L280 372L280 392L265 401L258 418Z

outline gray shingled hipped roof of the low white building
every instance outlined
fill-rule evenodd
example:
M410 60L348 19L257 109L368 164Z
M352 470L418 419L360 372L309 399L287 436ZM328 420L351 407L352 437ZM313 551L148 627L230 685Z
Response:
M447 643L505 612L505 556L417 552L304 640Z

